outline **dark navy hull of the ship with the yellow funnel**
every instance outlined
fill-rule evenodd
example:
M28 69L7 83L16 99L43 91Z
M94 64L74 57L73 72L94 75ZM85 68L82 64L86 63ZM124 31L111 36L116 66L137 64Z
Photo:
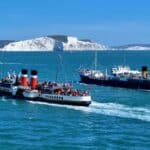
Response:
M80 82L86 84L95 84L101 86L120 87L128 89L150 90L150 80L128 79L126 81L118 79L92 79L87 76L80 75Z

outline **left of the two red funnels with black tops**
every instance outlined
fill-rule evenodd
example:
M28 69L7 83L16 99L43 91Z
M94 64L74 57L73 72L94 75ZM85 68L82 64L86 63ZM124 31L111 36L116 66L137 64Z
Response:
M28 70L22 69L21 71L21 85L28 86Z

